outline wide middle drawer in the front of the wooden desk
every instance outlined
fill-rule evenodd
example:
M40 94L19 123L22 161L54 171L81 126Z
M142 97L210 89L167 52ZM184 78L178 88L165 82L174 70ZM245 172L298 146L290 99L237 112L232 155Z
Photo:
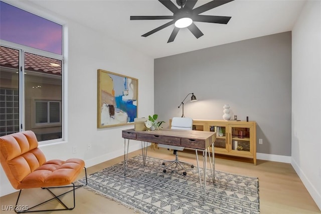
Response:
M162 136L157 134L140 134L137 133L136 140L151 142L151 143L163 143L170 145L181 145L181 139L177 137Z

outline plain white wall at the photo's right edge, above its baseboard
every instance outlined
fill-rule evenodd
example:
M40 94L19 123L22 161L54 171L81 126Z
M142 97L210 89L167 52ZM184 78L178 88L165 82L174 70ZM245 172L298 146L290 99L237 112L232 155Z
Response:
M321 209L321 2L292 30L292 166Z

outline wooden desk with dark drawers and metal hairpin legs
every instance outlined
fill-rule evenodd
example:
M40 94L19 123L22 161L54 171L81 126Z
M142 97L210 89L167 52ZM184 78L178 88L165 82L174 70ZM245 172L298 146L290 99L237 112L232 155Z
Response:
M126 167L128 160L128 148L129 140L141 141L141 150L143 157L143 164L145 165L147 156L147 143L162 143L174 146L183 146L186 148L195 149L197 168L199 172L201 193L205 201L205 190L206 190L206 164L207 164L207 153L209 154L211 173L213 184L215 183L215 165L214 165L214 141L216 140L216 133L209 131L195 131L195 130L180 130L180 129L161 129L155 131L135 131L134 129L127 129L122 131L122 137L124 138L125 149L124 149L124 176L126 176ZM127 149L126 149L127 139ZM212 145L212 158L209 152L209 147ZM198 150L203 151L203 184L201 179ZM204 194L203 194L204 192Z

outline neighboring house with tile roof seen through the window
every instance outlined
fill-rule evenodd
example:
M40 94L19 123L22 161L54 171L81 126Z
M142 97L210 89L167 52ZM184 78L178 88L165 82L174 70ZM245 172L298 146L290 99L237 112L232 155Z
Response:
M61 138L61 61L25 54L24 129L33 130L39 141ZM19 131L19 51L0 47L0 135ZM48 108L47 108L48 106Z

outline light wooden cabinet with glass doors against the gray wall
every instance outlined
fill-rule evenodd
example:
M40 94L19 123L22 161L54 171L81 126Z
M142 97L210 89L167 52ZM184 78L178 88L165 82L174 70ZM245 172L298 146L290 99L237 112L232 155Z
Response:
M251 158L256 165L255 121L193 120L193 129L216 132L215 153Z

